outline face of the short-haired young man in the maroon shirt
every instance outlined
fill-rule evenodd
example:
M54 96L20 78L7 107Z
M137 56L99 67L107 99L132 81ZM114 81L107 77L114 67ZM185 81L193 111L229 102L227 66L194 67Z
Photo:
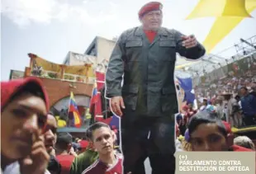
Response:
M113 151L114 135L111 129L102 127L95 129L92 133L93 145L99 154L107 154Z

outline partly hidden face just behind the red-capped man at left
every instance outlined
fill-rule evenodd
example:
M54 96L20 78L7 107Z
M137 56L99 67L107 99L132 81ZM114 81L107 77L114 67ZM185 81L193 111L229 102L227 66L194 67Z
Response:
M46 132L44 134L45 148L48 153L50 153L55 147L57 140L57 122L54 115L47 116L47 125L45 127Z

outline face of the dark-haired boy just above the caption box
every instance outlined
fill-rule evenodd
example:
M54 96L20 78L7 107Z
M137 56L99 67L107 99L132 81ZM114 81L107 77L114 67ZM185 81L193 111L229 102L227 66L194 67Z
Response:
M225 136L220 133L216 124L201 124L190 137L192 151L226 151L228 149Z

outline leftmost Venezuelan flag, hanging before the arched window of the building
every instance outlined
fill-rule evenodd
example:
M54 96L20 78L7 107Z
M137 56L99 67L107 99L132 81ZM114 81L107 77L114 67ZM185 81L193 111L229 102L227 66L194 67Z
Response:
M78 111L77 103L74 100L73 92L70 92L69 115L73 115L73 126L77 128L81 127L82 119Z

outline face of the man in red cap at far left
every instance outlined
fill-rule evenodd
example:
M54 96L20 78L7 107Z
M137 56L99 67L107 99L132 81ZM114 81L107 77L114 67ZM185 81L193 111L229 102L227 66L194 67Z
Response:
M31 153L46 122L45 101L23 93L7 104L1 116L1 153L13 160Z

